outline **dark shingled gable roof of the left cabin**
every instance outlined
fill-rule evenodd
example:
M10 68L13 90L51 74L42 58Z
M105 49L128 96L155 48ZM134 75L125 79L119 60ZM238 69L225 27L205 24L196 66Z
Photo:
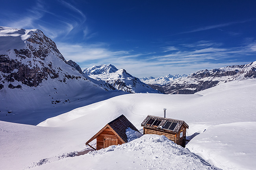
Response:
M122 138L122 140L124 140L124 142L128 142L125 133L127 128L131 128L132 130L139 132L139 130L137 130L137 128L135 128L135 126L128 121L124 115L117 117L115 120L109 122L108 125L119 135L119 137Z

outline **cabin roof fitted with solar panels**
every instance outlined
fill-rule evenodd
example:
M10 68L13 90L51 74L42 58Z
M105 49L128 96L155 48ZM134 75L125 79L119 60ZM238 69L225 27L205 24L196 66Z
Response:
M189 127L186 124L186 122L181 120L152 116L152 115L148 115L146 119L144 119L144 121L141 123L141 126L143 127L156 128L159 130L164 130L164 131L169 131L174 133L178 133L182 125L184 125L186 128Z

